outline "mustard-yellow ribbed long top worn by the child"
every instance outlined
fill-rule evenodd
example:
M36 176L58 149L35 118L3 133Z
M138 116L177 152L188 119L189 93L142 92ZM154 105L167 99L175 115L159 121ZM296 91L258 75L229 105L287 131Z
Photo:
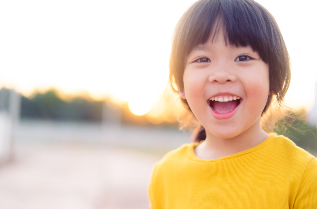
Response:
M197 145L154 165L150 208L317 208L317 159L284 136L214 160L198 158Z

